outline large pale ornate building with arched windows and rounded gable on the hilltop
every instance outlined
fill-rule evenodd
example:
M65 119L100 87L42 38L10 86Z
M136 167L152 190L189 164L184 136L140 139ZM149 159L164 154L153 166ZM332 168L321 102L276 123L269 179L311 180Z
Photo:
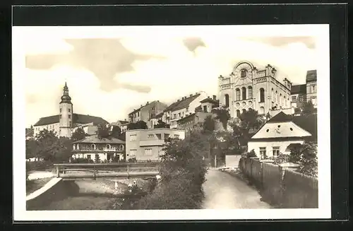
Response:
M229 107L231 117L250 108L258 114L290 108L292 83L287 78L280 81L276 72L270 64L258 70L249 61L240 61L229 76L218 78L220 105Z

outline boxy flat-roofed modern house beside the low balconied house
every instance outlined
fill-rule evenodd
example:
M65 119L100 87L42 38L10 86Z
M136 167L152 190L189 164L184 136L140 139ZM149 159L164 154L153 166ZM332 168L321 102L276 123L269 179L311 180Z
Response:
M167 138L185 138L185 131L178 129L136 129L126 131L126 159L156 161L164 155L162 148Z

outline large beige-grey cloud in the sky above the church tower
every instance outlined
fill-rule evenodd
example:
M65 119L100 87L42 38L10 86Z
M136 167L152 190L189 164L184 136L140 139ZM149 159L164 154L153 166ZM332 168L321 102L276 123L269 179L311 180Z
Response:
M73 49L60 54L28 54L28 69L47 70L57 65L71 65L77 69L87 69L100 80L100 88L112 91L127 87L129 90L142 90L148 87L141 85L119 85L114 78L116 73L134 71L133 62L164 57L150 54L136 54L126 49L118 39L71 39L65 40Z

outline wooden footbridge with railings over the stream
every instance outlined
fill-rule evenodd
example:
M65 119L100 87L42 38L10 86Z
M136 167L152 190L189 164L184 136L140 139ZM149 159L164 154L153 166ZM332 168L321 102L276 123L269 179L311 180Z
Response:
M97 178L114 179L151 179L159 171L159 162L124 162L124 163L82 163L54 164L56 177L63 180L82 180Z

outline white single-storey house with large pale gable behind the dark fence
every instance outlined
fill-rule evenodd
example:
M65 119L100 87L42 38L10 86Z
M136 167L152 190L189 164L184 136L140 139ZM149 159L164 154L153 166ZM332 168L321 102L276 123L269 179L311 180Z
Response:
M280 112L258 129L248 141L248 152L259 158L290 154L292 143L317 142L316 114L292 116Z

